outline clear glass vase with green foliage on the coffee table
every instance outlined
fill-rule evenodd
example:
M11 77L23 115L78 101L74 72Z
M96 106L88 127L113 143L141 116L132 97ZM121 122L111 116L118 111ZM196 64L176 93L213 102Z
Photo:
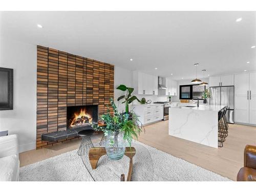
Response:
M113 98L110 99L113 114L108 106L107 114L101 115L106 126L94 125L96 131L103 131L105 138L106 154L112 160L121 159L125 153L126 141L129 146L132 145L133 137L138 138L143 125L137 118L137 115L130 111L128 113L119 113ZM131 118L132 117L132 118Z

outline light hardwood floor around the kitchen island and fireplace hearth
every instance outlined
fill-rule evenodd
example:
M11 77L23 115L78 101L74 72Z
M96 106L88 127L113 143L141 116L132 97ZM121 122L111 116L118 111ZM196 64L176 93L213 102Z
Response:
M94 136L93 142L101 135ZM256 145L256 127L229 125L229 135L222 148L212 148L168 135L168 121L161 121L145 126L145 134L139 141L158 148L173 156L199 165L224 177L236 180L239 169L243 166L243 151L246 144ZM58 143L52 147L31 150L19 154L20 166L35 163L79 147L81 140Z

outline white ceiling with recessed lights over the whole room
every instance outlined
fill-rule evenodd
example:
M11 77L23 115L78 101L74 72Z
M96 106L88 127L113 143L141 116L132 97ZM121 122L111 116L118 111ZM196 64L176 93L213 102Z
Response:
M194 78L194 63L199 77L256 70L256 12L1 12L0 27L5 38L177 80Z

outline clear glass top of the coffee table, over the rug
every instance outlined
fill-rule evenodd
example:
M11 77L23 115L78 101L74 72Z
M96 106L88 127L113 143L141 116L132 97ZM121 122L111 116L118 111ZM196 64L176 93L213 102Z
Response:
M99 143L93 143L94 147L102 147ZM134 142L132 147L136 153L133 156L133 167L131 181L153 181L153 161L147 148L138 142ZM80 156L84 166L94 181L120 181L121 175L124 174L125 180L129 173L130 158L123 156L120 160L111 160L107 155L103 155L96 163L95 169L89 160L89 153Z

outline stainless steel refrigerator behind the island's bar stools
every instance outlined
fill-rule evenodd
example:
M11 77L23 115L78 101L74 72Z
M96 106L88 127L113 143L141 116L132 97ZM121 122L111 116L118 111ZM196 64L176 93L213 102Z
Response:
M209 104L226 105L228 123L234 123L234 86L210 87Z

